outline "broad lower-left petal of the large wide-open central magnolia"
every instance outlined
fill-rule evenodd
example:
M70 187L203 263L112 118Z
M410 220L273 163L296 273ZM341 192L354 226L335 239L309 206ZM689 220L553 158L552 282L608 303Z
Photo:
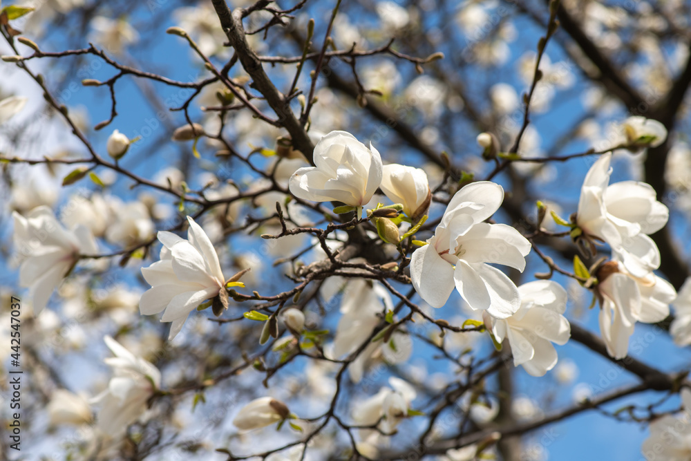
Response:
M410 279L413 287L426 303L434 308L441 308L453 292L453 267L444 261L430 243L418 248L410 258Z

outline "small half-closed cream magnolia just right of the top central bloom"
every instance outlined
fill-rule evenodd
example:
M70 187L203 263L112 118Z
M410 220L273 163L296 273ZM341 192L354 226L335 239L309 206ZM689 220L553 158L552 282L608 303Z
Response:
M379 187L393 203L403 205L403 212L413 220L426 214L432 191L424 169L392 163L384 165L382 171Z

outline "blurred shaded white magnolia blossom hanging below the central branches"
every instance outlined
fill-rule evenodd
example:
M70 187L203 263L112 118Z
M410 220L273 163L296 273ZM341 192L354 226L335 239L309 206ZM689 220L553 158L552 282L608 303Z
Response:
M334 357L352 354L370 341L372 332L381 321L380 315L393 308L391 297L381 284L366 279L351 281L341 304L343 317L339 320L334 337ZM390 364L406 361L412 346L410 338L398 331L393 332L386 344L383 340L369 342L348 367L350 379L360 382L368 362L379 356Z

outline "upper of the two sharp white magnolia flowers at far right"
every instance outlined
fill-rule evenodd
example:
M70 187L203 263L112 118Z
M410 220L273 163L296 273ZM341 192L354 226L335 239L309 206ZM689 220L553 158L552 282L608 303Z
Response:
M576 222L588 236L608 243L629 272L645 276L660 267L660 251L647 234L664 227L670 212L645 182L609 185L611 160L611 153L600 156L585 176Z

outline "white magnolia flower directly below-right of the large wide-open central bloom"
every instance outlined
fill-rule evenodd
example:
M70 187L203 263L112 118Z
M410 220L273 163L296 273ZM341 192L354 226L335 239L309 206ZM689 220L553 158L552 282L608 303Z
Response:
M554 281L538 280L518 287L520 309L507 319L494 319L484 312L484 323L501 344L508 339L513 365L522 365L529 375L544 376L557 364L552 343L563 346L571 337L566 310L566 290Z

